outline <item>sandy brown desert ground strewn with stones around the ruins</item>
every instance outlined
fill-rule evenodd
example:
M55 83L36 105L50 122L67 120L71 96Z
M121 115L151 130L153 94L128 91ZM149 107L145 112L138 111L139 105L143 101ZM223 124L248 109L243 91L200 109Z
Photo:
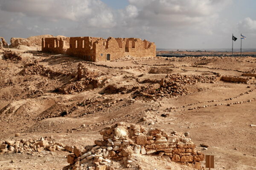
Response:
M189 132L197 150L215 156L214 170L256 170L255 77L247 77L248 83L220 80L256 74L256 58L126 57L93 63L41 51L5 50L16 54L0 54L0 142L44 138L82 148L102 139L102 128L125 122ZM87 76L78 80L80 66ZM160 87L162 79L171 82ZM175 92L168 88L173 79L180 80ZM61 170L68 165L68 154L0 153L0 170ZM167 169L157 157L138 159L144 170ZM192 170L174 162L168 166Z

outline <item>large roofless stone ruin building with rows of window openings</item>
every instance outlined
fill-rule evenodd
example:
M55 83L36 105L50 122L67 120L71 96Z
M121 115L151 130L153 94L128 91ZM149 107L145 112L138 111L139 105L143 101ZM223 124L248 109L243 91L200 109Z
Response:
M132 57L156 57L154 42L139 38L42 38L42 51L67 54L91 62L111 61L128 55Z

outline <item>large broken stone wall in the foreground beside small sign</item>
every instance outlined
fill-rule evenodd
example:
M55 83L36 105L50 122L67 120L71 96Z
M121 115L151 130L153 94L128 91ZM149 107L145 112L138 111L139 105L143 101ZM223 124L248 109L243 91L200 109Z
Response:
M120 162L130 169L134 154L159 156L166 161L179 162L201 169L204 154L195 149L191 139L173 131L167 134L160 129L145 129L140 125L117 123L100 131L103 140L96 145L86 146L81 151L74 147L67 156L70 163L64 170L113 170L113 162Z

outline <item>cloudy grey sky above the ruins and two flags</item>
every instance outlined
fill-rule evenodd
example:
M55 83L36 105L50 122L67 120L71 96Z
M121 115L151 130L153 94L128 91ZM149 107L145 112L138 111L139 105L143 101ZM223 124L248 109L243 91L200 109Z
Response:
M256 0L0 0L0 37L136 37L157 48L256 48Z

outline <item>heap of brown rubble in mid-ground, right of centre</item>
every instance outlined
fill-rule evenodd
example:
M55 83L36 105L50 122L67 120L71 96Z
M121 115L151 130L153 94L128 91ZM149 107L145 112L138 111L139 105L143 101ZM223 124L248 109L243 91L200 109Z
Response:
M197 82L214 83L216 76L201 76L201 75L180 75L170 74L160 81L160 87L154 86L142 87L134 92L137 96L149 97L157 99L160 97L182 96L189 94L185 85L192 85Z

